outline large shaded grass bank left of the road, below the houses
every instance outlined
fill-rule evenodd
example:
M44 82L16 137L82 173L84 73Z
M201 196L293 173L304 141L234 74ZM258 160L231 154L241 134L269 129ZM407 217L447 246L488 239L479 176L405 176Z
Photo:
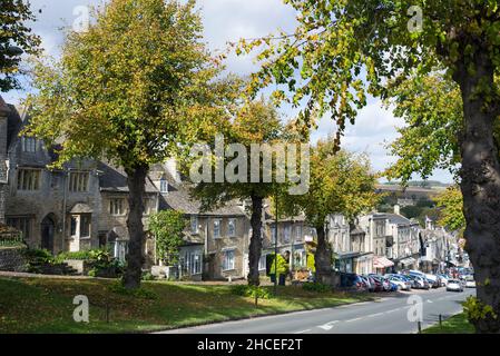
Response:
M116 285L104 279L0 278L0 333L148 332L371 299L287 286L280 287L278 297L261 299L256 308L253 299L233 295L225 285L144 281L148 293L140 297L114 291ZM77 295L89 298L88 324L72 319Z

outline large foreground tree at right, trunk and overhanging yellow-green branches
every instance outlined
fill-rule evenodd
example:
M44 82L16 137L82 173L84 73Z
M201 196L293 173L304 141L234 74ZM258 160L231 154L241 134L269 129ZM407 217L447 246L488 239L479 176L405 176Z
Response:
M339 128L336 144L346 120L353 123L356 111L365 106L366 93L404 99L398 90L391 91L388 82L398 87L409 78L422 81L439 72L455 83L463 119L454 141L461 166L467 250L478 280L478 305L493 310L473 323L480 333L500 332L500 160L493 134L500 112L494 81L500 63L498 2L285 2L297 12L294 33L241 43L246 51L265 46L258 55L261 70L253 75L248 91L254 93L269 83L280 86L274 92L276 100L306 103L301 116L305 126L312 126L312 113L330 111ZM432 91L425 95L432 97ZM432 142L432 147L439 145ZM435 158L432 155L429 159Z

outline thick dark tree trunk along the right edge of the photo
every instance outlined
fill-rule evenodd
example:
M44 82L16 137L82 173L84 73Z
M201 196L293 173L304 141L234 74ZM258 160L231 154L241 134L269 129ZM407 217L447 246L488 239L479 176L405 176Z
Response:
M461 137L461 190L467 220L465 250L474 267L478 299L498 315L471 320L478 333L500 332L500 164L493 138L494 106L479 88L493 88L493 65L487 51L476 55L476 73L462 65L454 80L463 100L464 129ZM489 99L492 101L488 102Z

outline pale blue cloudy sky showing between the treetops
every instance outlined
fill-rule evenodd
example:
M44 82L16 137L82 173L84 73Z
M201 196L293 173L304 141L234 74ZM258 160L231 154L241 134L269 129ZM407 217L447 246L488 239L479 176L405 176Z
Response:
M80 7L96 6L104 0L30 0L38 20L31 26L42 38L43 49L51 56L60 53L63 34L61 27L71 26L81 14ZM224 50L228 41L239 38L256 38L283 29L292 32L295 27L295 12L282 0L198 0L205 27L205 40L213 51ZM38 10L41 9L41 13ZM236 75L249 75L258 67L253 58L231 55L227 70ZM17 103L26 95L22 90L2 93L6 101ZM292 118L295 111L282 108L285 118ZM391 110L383 109L378 99L371 98L367 106L359 112L354 126L349 125L343 147L354 152L366 152L375 170L383 170L395 157L391 157L385 146L398 137L396 127L404 125ZM324 118L312 139L324 138L335 130L334 122ZM420 179L414 177L414 179ZM430 179L451 182L450 174L434 171Z

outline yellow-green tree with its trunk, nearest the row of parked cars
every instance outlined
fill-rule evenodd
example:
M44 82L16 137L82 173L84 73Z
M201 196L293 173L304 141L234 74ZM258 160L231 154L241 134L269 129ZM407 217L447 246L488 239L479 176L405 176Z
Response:
M284 214L302 211L307 224L316 229L314 261L318 281L326 280L332 271L332 250L325 226L327 216L337 212L352 220L363 210L373 208L379 199L367 158L345 150L333 154L333 140L318 141L313 149L310 189L305 195L281 198Z

